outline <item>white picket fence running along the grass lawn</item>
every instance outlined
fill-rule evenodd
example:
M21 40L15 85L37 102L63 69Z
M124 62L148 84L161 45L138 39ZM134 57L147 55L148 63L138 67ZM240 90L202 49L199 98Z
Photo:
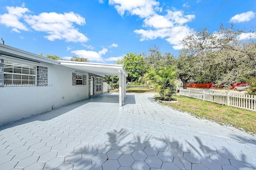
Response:
M198 89L180 89L180 95L256 111L256 96Z

